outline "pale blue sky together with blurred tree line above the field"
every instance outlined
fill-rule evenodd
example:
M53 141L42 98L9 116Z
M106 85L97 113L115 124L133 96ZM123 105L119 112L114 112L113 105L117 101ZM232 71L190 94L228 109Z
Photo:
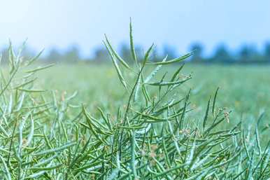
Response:
M28 39L24 56L45 48L44 62L107 62L106 33L128 60L131 17L138 54L154 42L155 61L196 49L190 62L267 64L269 6L267 0L2 1L0 47L6 55L8 39L16 47Z

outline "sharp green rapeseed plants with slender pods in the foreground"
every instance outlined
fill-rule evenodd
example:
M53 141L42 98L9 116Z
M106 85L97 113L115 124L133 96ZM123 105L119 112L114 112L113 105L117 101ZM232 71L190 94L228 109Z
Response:
M264 130L258 130L262 116L254 132L241 122L220 129L229 112L216 106L217 90L201 120L187 118L191 90L183 97L177 91L191 78L180 76L178 62L185 58L150 62L152 45L138 61L132 25L135 63L105 44L127 97L117 113L99 108L99 115L73 105L76 93L58 98L36 90L36 74L50 65L33 68L10 46L10 69L1 72L1 179L269 178L269 143L261 144ZM164 64L179 67L158 76Z

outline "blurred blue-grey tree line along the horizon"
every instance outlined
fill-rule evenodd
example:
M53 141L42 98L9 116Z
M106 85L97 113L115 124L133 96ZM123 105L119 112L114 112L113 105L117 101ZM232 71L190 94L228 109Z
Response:
M220 44L215 47L212 55L204 55L204 46L201 43L192 43L190 51L194 50L194 55L190 57L188 62L190 63L222 63L222 64L261 64L270 63L270 41L264 44L263 50L257 50L256 46L250 44L243 44L235 52L229 50L224 44ZM8 62L8 47L1 48L2 60L1 63ZM47 53L41 56L42 62L59 62L59 63L77 63L77 62L94 62L94 63L106 63L111 62L106 48L103 46L94 48L94 55L92 57L82 57L80 55L80 48L78 46L70 46L66 50L59 50L57 48L51 48ZM123 43L118 52L124 60L127 62L132 61L132 55L129 50L129 45ZM143 59L145 53L141 46L136 46L136 52L138 60ZM24 58L31 58L36 55L35 52L29 47L25 47L22 55ZM173 46L165 45L162 48L155 48L152 55L152 61L159 62L166 55L168 60L178 57L178 52Z

